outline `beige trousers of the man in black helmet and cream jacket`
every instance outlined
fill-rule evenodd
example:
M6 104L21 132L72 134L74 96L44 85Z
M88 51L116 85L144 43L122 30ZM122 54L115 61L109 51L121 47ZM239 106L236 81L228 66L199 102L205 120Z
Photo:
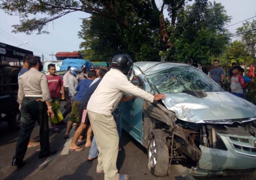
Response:
M119 177L116 167L119 137L114 117L90 111L88 115L99 150L97 170L104 170L105 180L114 180Z

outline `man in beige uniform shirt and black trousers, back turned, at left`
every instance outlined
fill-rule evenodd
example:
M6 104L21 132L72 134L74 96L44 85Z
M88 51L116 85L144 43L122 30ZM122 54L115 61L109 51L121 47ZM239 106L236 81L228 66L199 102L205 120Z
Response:
M23 158L27 151L27 145L35 121L40 125L39 158L44 158L56 153L50 151L48 116L53 118L51 96L48 89L46 76L40 72L43 69L42 62L35 57L28 58L30 70L20 76L18 101L21 104L21 116L23 124L20 129L19 138L16 144L16 152L12 166L21 167L25 161Z

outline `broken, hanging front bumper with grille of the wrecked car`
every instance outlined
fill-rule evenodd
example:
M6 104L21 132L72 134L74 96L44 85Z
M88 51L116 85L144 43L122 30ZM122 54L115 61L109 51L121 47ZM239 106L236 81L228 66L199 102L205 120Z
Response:
M227 151L200 145L202 156L192 175L228 175L227 172L248 174L256 168L256 138L217 133L224 142ZM235 170L235 171L234 171Z

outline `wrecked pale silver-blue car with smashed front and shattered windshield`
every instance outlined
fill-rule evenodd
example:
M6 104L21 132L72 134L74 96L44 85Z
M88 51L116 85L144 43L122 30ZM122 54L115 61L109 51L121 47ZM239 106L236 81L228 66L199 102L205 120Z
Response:
M122 126L147 148L148 168L165 176L171 161L190 161L192 175L256 170L256 106L225 92L193 66L136 62L132 83L167 97L122 103Z

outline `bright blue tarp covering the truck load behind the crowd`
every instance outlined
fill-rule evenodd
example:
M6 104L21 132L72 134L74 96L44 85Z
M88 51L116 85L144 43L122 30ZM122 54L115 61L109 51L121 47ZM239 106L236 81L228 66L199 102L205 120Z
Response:
M60 66L60 71L67 71L68 66L77 66L78 68L81 68L82 65L86 66L88 72L93 64L84 59L64 59L62 61L62 65Z

